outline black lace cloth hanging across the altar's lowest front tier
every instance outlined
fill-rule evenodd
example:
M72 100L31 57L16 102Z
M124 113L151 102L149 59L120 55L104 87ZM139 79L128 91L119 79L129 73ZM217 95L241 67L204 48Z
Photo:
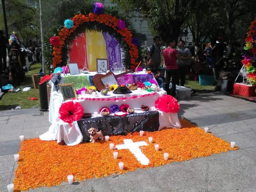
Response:
M101 130L103 135L127 135L128 132L154 132L159 128L158 111L134 113L127 116L102 116L77 121L83 134L83 142L90 140L88 130L92 127Z

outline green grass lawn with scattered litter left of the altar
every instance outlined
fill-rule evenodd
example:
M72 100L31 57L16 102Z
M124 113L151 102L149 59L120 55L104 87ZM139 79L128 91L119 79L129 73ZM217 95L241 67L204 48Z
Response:
M2 99L0 100L0 110L10 110L17 106L21 106L22 109L40 107L39 89L34 89L31 78L31 75L39 73L40 69L40 63L32 65L31 70L26 73L25 82L21 83L19 86L20 91L17 93L4 93ZM31 87L31 90L28 92L22 92L21 90L24 87ZM37 97L38 100L29 100L28 97Z

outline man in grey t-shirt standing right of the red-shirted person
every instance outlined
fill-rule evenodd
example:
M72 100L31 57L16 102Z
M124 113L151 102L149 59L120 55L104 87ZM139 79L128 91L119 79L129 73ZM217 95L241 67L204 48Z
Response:
M188 74L189 70L189 60L191 59L191 52L189 51L188 48L184 47L185 42L183 40L180 40L178 42L178 51L180 54L180 59L177 60L177 64L179 67L179 78L178 84L180 81L180 86L184 86L185 84L185 78L186 75Z

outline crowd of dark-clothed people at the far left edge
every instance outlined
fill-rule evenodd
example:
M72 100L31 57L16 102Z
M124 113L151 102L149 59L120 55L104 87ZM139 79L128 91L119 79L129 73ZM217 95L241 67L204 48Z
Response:
M20 86L25 80L25 72L29 70L30 65L41 61L40 56L40 47L21 48L16 33L10 37L8 43L4 32L0 30L0 88L7 84L3 75L9 77L8 80L14 88Z

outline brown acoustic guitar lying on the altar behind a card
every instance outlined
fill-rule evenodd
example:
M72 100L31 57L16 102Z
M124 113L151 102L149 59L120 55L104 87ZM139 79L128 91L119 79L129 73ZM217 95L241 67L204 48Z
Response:
M101 81L101 78L103 77L106 77L106 76L109 76L109 75L113 75L115 77L115 79L117 77L120 77L120 76L123 76L123 75L126 75L128 73L134 73L134 70L133 69L130 69L129 71L126 71L124 73L120 73L118 75L115 75L112 71L108 72L107 74L96 74L92 77L92 81L93 81L93 84L94 86L97 88L98 91L101 91L102 89L106 89L106 87L104 86L104 84L102 83Z

